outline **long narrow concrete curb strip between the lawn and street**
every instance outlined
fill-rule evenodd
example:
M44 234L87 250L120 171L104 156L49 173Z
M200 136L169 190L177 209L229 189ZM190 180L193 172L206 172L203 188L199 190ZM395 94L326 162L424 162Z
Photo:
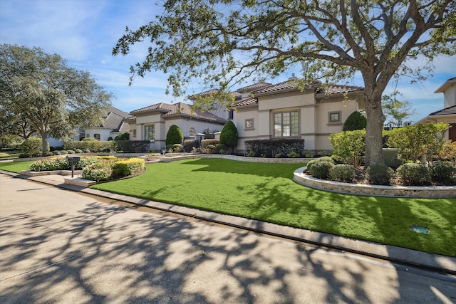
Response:
M225 224L241 229L256 231L262 234L279 236L284 239L291 239L294 241L301 241L304 243L312 243L318 246L325 246L328 248L336 248L341 251L349 251L353 253L363 254L365 256L382 258L384 260L393 261L395 263L403 263L410 266L427 268L432 271L439 271L443 273L450 273L452 275L456 275L456 258L452 258L449 256L440 256L437 254L425 253L423 251L415 251L407 248L383 245L380 243L373 243L369 241L348 239L343 236L324 234L309 231L306 229L296 229L289 226L281 226L277 224L266 223L264 221L244 219L237 216L217 214L214 212L202 211L184 206L176 206L172 204L160 203L157 201L150 201L148 199L138 199L131 196L113 194L110 192L103 192L96 189L78 187L75 185L66 184L64 181L65 177L60 175L26 177L21 174L6 172L3 170L0 170L0 173L8 174L13 177L28 179L33 182L50 184L56 187L61 187L63 189L68 189L76 192L105 197L107 199L125 201L130 204L147 206L153 209L168 211L185 216L191 216L197 219L212 221L218 224Z

